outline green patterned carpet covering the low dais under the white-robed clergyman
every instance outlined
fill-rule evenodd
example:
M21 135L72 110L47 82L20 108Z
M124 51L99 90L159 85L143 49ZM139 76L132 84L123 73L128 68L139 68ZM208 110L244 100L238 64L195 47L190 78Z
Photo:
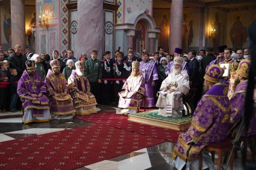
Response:
M155 120L167 121L167 122L170 122L170 123L178 123L178 124L190 122L192 120L192 115L186 116L186 117L181 117L181 118L179 118L179 117L177 117L177 118L163 117L161 115L158 115L158 110L140 112L140 113L137 113L136 116L145 117L145 118L152 118L152 119L155 119Z

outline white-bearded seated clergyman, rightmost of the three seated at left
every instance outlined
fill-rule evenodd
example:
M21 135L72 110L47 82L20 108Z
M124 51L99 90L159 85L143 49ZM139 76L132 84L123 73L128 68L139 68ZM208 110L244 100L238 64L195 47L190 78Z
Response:
M76 70L73 70L67 82L72 85L71 93L76 115L95 114L96 99L90 92L89 80L84 77L84 66L81 61L75 62Z

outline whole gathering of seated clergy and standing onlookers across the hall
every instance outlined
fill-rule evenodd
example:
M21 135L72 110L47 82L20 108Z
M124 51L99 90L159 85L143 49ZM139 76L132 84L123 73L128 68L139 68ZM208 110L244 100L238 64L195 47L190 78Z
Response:
M193 89L192 124L180 134L173 150L176 168L187 162L193 167L205 145L229 135L245 105L249 49L218 49L216 54L211 47L199 52L176 48L170 55L158 47L154 54L143 50L140 55L130 47L126 56L118 49L113 54L105 52L99 60L97 50L92 50L90 58L82 53L77 59L73 50L63 56L57 50L51 56L29 49L23 54L17 44L8 56L0 52L0 82L10 82L8 88L7 83L0 83L0 109L15 112L20 97L23 123L93 114L97 103L111 102L118 103L117 114L157 106L163 117L182 117L183 97ZM249 135L256 132L255 120L251 120Z

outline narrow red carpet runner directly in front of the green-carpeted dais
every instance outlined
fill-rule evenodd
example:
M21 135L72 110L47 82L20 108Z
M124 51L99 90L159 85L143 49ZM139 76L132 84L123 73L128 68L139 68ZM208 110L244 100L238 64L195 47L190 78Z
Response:
M150 126L147 124L128 121L128 116L117 115L115 112L104 112L93 115L76 117L80 120L90 121L92 123L105 124L107 126L117 127L119 129L153 136L166 141L177 142L180 134L177 130L164 129L161 127Z

